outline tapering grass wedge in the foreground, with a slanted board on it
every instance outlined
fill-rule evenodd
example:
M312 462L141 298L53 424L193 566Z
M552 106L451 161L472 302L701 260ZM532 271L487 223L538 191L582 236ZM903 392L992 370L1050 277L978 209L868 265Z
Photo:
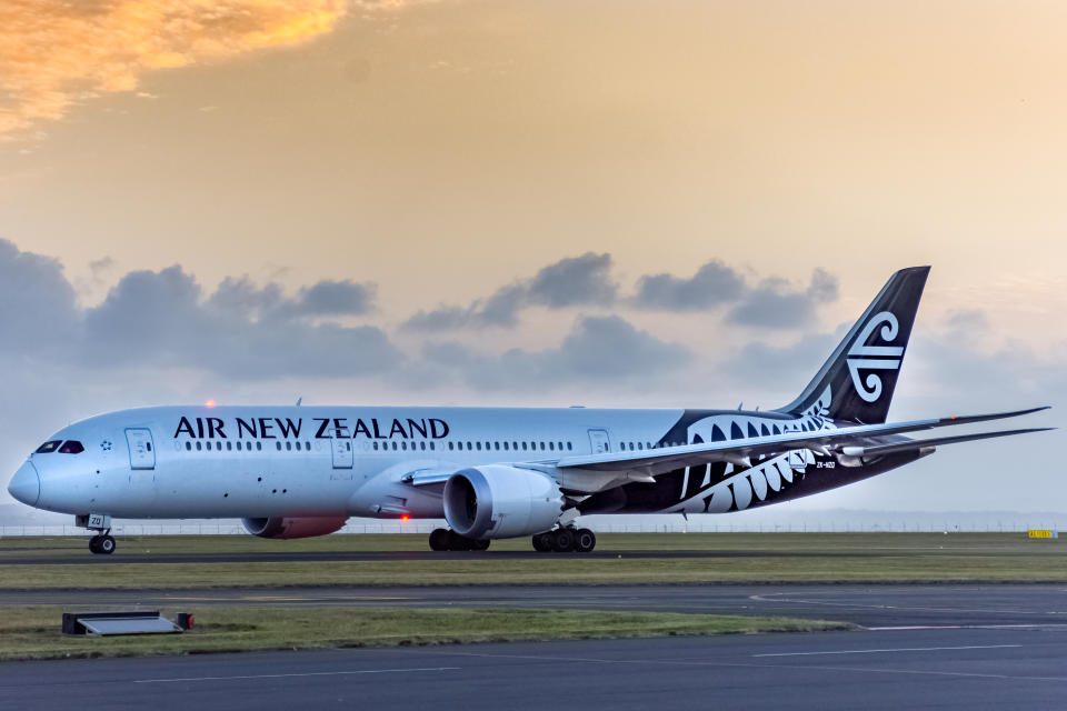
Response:
M819 620L665 612L212 607L185 634L63 637L57 607L6 608L0 661L272 649L848 630Z

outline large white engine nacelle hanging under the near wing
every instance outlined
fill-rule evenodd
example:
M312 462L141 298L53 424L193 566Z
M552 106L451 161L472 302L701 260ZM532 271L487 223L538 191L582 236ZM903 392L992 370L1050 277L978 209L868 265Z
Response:
M445 483L445 518L467 538L540 533L556 524L562 508L559 485L529 469L486 464L458 471Z

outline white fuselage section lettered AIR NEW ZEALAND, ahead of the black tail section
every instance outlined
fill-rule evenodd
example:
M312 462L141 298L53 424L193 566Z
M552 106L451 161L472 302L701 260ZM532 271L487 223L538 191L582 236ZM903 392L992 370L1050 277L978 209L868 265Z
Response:
M30 455L40 479L32 505L122 518L440 518L439 493L405 485L401 477L651 448L681 414L585 408L126 410L51 438L77 441L83 452Z

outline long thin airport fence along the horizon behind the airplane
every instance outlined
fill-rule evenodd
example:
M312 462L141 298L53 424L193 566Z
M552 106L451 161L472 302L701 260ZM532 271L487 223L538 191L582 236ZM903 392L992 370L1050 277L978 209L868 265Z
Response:
M1067 530L1067 521L1018 521L1004 523L909 523L891 522L811 522L811 523L611 523L588 522L597 533L1025 533L1029 529ZM349 522L335 535L373 535L383 533L425 533L445 525L443 521L370 521ZM232 523L117 523L111 532L116 535L247 535L239 522ZM90 532L76 525L0 525L0 538L71 535L84 537Z

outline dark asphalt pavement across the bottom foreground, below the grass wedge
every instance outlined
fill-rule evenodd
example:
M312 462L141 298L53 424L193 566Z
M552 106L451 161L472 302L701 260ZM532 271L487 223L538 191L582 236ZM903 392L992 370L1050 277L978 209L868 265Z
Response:
M0 664L6 709L1058 709L1058 629L920 629Z

